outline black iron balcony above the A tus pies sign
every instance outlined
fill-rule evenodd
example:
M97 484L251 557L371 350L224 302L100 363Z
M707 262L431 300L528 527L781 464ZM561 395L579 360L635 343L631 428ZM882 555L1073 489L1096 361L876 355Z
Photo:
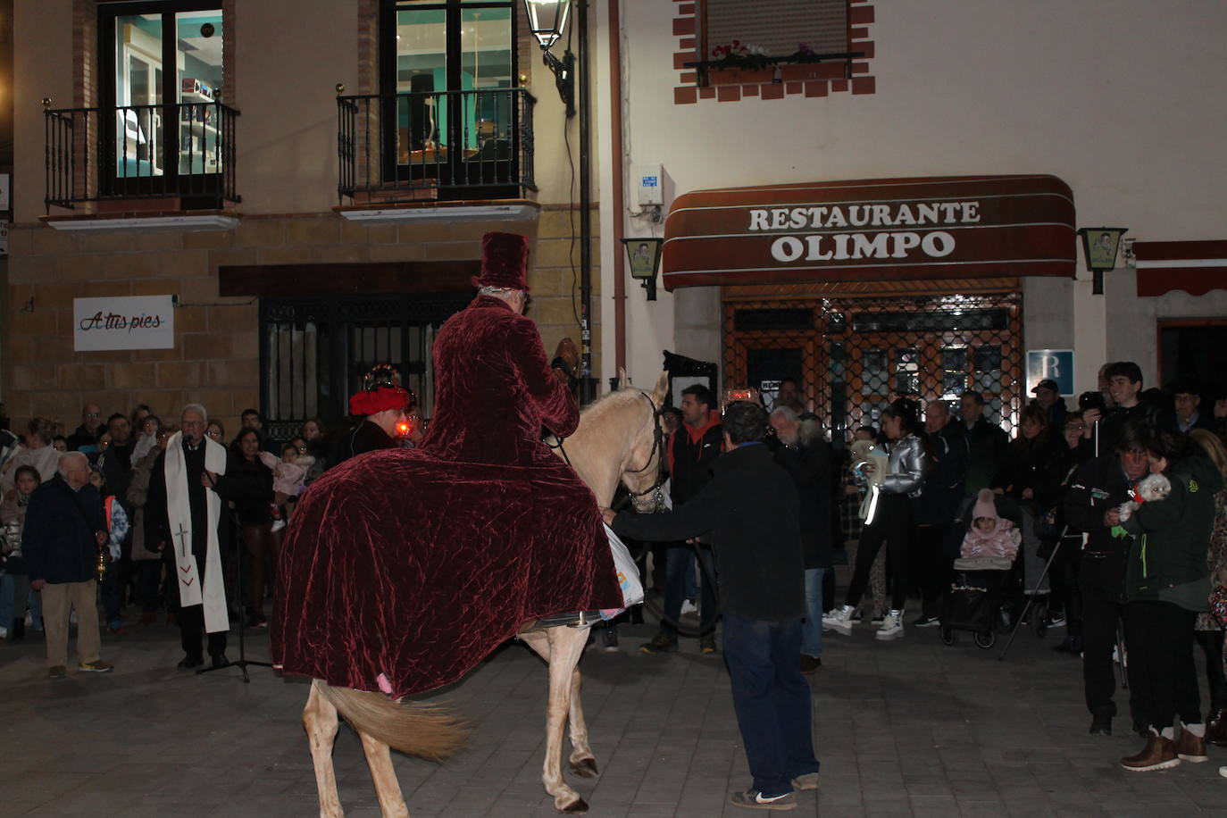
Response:
M218 102L48 109L48 216L52 207L101 215L237 204L238 115Z

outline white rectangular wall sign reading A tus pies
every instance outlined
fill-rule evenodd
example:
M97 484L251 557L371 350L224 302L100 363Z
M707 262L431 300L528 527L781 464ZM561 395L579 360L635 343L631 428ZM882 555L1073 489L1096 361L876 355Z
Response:
M173 350L174 303L171 296L72 299L72 348Z

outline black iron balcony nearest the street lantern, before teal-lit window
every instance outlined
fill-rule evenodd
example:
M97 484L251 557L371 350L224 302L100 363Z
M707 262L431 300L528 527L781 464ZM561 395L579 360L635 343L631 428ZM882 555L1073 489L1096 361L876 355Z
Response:
M535 102L524 88L339 96L337 210L524 199Z

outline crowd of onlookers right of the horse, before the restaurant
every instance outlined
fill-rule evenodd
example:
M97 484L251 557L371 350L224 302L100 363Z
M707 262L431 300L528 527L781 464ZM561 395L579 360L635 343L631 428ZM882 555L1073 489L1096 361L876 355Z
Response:
M1054 650L1081 659L1091 732L1112 732L1114 663L1128 656L1131 726L1146 746L1121 765L1146 771L1207 760L1207 742L1227 746L1227 395L1188 380L1146 390L1131 362L1106 364L1101 389L1080 396L1077 408L1052 380L1032 392L1014 439L984 417L984 396L966 391L957 406L934 400L923 410L899 397L882 411L880 429L858 428L849 445L833 448L796 383L782 383L764 443L801 498L806 598L794 661L802 673L821 668L823 629L848 635L871 619L876 639L888 643L909 628L942 627L956 560L1010 569L1000 612L1009 625L1026 607L1027 583L1047 568L1050 598L1029 616L1064 628ZM718 401L691 386L666 423L672 508L685 513L720 473ZM1162 475L1169 488L1137 503L1147 475ZM1118 516L1131 499L1136 510ZM632 535L652 527L623 525ZM1025 532L1036 543L1029 551ZM653 546L663 617L640 651L676 650L688 601L698 603L701 651L715 650L710 591L723 590L724 578L710 536L697 530L688 542ZM832 568L842 543L853 570L837 601ZM871 607L863 606L866 595ZM1205 654L1205 714L1194 645Z

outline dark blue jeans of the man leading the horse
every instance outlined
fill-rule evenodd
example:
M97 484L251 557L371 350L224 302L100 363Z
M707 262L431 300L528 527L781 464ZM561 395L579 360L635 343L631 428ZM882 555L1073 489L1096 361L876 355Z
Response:
M796 656L801 621L762 622L724 614L724 661L746 746L753 789L773 798L791 779L818 771L810 731L810 686Z

